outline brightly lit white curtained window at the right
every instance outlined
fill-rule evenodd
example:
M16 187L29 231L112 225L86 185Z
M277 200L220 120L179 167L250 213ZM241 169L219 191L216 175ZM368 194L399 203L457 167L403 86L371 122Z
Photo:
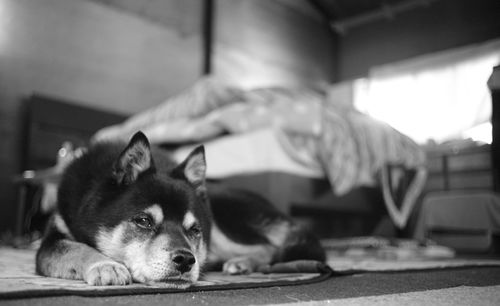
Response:
M377 67L354 81L353 103L418 143L477 135L471 128L489 131L491 139L486 82L499 63L495 40Z

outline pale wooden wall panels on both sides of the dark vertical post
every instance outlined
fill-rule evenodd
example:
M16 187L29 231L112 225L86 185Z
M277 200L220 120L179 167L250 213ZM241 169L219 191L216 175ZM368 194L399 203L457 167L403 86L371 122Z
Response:
M202 73L203 4L0 0L0 231L14 225L23 100L38 92L124 115L156 105ZM307 1L214 4L215 74L245 86L333 79L333 36Z

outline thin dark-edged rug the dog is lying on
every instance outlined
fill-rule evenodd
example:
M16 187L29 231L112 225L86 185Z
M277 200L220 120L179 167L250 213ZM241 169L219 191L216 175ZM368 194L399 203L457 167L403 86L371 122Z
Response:
M202 290L229 290L269 286L287 286L319 282L332 270L316 261L295 261L264 266L257 273L226 275L208 272L196 285L187 289L167 288L161 283L128 286L90 286L83 281L43 277L35 273L33 249L0 247L0 299L61 295L113 296L158 294Z

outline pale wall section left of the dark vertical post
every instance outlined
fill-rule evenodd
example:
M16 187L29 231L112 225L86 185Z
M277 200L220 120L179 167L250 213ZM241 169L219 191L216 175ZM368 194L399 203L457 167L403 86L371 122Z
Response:
M202 2L147 1L155 2L184 21L164 24L111 2L0 0L0 231L13 226L24 98L40 92L131 114L200 76Z

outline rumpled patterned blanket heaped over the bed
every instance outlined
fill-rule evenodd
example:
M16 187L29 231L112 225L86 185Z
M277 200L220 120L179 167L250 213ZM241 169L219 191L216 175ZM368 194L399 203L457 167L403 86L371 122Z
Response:
M242 90L207 77L157 107L99 131L93 140L127 140L142 130L156 144L210 145L222 135L243 137L271 130L279 150L286 152L290 161L313 169L311 176L327 177L337 195L358 186L375 185L385 165L409 169L424 165L424 152L409 137L343 105L310 89ZM269 133L263 135L269 137ZM257 152L266 148L238 145L234 149ZM219 159L224 163L224 158ZM208 168L216 167L209 160Z

